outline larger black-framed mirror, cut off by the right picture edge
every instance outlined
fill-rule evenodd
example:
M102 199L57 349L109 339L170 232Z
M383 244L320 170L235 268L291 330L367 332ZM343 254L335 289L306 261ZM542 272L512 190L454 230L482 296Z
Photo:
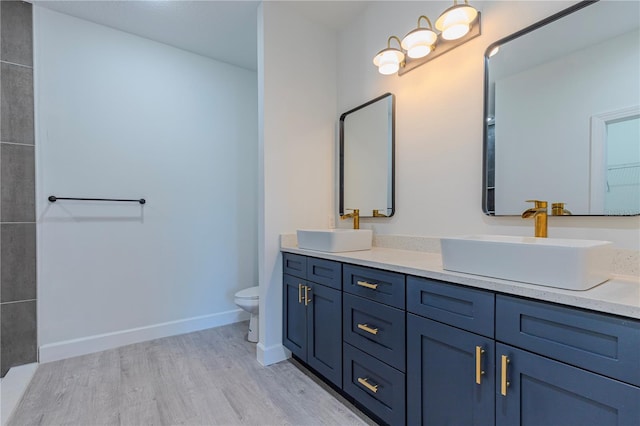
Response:
M638 1L583 1L487 48L486 214L640 214L639 28Z

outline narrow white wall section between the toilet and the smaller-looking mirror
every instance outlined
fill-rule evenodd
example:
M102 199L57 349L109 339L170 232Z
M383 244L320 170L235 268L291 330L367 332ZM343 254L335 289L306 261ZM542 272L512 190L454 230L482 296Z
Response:
M298 228L326 228L336 210L336 36L286 3L263 2L258 10L258 360L263 364L287 355L282 346L279 235Z

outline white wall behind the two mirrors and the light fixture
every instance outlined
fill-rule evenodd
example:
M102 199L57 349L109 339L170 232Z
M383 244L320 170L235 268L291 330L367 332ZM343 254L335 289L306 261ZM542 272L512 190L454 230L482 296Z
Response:
M482 35L402 77L380 75L373 56L389 35L403 36L421 14L435 19L450 2L373 2L339 35L339 113L385 92L397 96L396 214L361 226L435 237L533 235L530 220L482 213L483 55L492 42L574 3L472 2L482 12ZM639 229L639 217L549 219L551 237L610 240L634 250Z

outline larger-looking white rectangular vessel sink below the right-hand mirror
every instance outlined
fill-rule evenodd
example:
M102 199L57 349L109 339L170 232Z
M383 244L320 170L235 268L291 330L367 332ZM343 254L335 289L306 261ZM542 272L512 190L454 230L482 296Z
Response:
M440 243L448 271L567 290L587 290L611 277L608 241L471 235Z

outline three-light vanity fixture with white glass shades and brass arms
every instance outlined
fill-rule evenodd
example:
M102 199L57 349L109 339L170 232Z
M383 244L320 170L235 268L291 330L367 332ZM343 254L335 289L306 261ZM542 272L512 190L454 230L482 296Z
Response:
M420 26L421 21L426 21L428 26ZM424 25L424 24L423 24ZM454 49L467 41L480 35L480 12L465 0L464 4L453 1L453 6L442 12L435 23L436 30L431 20L425 15L418 18L418 26L409 31L400 41L396 36L387 40L387 48L378 52L373 63L378 67L380 74L403 75L414 68ZM400 44L400 49L391 47L391 40Z

